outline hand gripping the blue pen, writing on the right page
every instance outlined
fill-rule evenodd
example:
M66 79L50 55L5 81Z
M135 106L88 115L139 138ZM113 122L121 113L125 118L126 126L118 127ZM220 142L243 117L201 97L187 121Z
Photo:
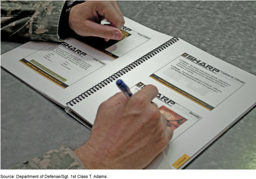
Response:
M127 99L119 92L98 108L91 136L74 153L86 169L142 169L167 146L173 130L147 85Z

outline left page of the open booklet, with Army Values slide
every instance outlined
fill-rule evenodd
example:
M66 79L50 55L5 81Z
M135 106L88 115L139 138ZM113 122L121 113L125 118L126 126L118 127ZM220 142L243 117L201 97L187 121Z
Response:
M87 37L67 38L61 43L28 42L3 54L1 66L66 107L85 89L172 38L128 18L125 21L121 40Z

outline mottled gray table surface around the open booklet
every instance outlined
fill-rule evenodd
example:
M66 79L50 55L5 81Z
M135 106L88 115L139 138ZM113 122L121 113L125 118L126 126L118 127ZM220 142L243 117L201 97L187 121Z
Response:
M256 75L256 1L120 1L118 4L124 16L179 37ZM1 54L25 42L1 40ZM90 130L63 108L1 68L1 169L60 146L74 150L86 143L89 135ZM256 169L255 136L256 108L186 169Z

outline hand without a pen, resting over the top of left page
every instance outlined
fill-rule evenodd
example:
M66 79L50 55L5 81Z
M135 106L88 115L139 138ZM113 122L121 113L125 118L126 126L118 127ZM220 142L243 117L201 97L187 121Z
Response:
M102 20L110 25L101 25ZM81 36L120 40L124 17L116 1L87 1L70 9L69 27Z

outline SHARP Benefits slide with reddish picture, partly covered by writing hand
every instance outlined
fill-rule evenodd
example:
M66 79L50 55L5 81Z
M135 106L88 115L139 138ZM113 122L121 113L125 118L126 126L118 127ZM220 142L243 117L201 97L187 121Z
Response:
M139 82L130 90L134 94L141 90L145 86L144 83ZM185 132L189 127L194 125L197 121L202 119L198 114L190 111L187 108L174 102L169 96L165 96L160 92L152 100L158 105L160 113L167 119L167 126L171 127L174 131L171 142L174 141L178 136Z

